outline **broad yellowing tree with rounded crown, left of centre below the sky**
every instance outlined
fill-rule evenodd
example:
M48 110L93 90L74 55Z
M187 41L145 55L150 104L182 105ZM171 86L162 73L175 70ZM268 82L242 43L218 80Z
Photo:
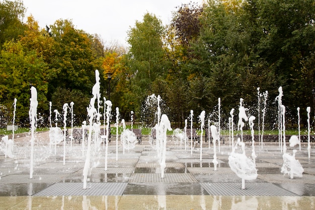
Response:
M49 83L49 95L58 87L90 94L95 83L95 69L101 66L95 64L89 35L75 29L68 20L57 20L50 29L55 44L49 63L54 74Z

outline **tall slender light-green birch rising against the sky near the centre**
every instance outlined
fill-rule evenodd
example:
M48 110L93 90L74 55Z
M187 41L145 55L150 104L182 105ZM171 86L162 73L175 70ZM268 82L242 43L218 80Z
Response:
M161 20L146 13L143 21L136 21L128 31L129 61L132 75L132 93L136 99L137 111L141 102L151 94L151 84L165 72L163 65L164 27Z

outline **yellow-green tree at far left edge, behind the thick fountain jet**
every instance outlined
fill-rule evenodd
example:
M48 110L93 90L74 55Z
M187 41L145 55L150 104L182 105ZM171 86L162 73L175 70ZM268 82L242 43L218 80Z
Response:
M36 51L27 51L20 41L9 41L3 45L0 54L0 101L8 109L17 98L17 123L29 123L30 86L38 92L38 112L47 110L47 64ZM13 111L13 110L12 110Z

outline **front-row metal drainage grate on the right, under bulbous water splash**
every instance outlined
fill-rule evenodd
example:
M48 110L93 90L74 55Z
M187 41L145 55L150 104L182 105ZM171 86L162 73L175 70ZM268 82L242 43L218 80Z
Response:
M200 183L210 195L245 196L298 196L271 183Z

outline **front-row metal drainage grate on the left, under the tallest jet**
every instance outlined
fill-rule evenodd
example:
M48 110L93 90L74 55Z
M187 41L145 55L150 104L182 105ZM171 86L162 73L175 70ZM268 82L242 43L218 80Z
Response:
M56 183L33 196L82 196L82 195L122 195L127 183L88 183L88 189L82 189L83 183Z

